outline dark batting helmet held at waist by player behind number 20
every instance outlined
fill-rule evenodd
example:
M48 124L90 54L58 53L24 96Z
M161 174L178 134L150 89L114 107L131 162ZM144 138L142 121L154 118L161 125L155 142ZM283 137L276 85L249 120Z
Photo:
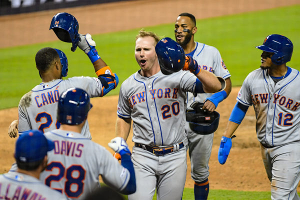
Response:
M190 104L193 110L187 111L185 117L192 131L198 134L210 134L217 129L220 114L217 111L204 111L203 105L204 103L194 101Z

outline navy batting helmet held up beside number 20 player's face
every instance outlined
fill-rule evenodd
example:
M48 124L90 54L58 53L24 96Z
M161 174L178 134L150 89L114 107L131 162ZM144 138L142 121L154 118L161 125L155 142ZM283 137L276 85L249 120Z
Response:
M183 68L185 63L184 50L171 38L160 39L155 46L155 51L163 74L168 75Z

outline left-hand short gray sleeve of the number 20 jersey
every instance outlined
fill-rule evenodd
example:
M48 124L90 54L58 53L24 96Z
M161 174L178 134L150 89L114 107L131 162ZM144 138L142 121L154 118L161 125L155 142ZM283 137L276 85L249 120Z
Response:
M119 91L119 98L117 102L117 115L121 118L130 118L131 114L131 107L128 99L125 96L124 92L124 84L121 85L120 91Z

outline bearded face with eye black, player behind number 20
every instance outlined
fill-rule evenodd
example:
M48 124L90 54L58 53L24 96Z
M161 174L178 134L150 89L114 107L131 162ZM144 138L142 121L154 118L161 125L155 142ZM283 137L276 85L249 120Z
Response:
M175 38L177 43L185 46L191 39L193 27L194 24L188 16L178 16L175 22Z

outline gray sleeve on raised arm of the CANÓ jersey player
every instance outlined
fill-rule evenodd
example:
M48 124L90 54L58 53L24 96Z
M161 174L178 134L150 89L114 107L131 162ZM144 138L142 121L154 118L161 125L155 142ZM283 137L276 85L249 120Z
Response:
M79 87L84 89L89 97L102 96L103 88L100 80L96 77L76 76L65 80L68 87Z

